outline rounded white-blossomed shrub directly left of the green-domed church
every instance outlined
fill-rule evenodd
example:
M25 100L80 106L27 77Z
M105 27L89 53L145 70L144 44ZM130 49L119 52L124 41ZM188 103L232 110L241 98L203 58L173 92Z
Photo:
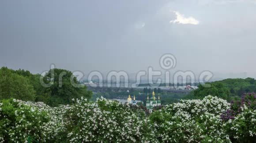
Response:
M154 142L155 129L142 109L115 100L76 100L64 115L68 142Z

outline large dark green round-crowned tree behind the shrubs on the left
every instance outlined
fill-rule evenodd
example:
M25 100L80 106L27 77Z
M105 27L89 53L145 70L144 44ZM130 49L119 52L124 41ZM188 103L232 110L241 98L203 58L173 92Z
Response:
M74 84L79 85L79 82L68 70L51 69L45 74L43 80L51 84L50 87L44 88L44 93L50 95L48 104L51 106L70 104L73 98L91 98L92 92L87 91L86 86L74 86Z

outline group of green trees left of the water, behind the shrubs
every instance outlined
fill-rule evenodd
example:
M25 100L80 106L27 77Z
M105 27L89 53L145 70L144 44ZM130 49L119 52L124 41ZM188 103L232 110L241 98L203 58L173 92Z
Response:
M47 84L43 86L40 82ZM60 80L61 79L61 80ZM72 81L73 80L73 81ZM44 76L32 74L23 69L0 68L0 100L15 98L24 101L41 101L50 106L69 104L72 98L90 98L92 93L79 84L72 72L64 69L51 69Z

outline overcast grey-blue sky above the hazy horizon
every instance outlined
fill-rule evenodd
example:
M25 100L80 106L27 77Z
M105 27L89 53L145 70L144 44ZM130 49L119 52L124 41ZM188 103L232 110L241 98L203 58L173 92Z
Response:
M0 67L256 73L256 0L0 0ZM256 77L256 76L255 76Z

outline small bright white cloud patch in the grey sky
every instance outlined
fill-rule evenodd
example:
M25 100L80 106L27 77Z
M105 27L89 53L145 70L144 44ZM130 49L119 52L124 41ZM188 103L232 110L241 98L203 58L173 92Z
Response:
M183 14L180 14L178 11L173 11L176 14L176 19L170 21L170 23L179 23L179 24L192 24L198 25L199 21L197 21L193 17L185 18Z

